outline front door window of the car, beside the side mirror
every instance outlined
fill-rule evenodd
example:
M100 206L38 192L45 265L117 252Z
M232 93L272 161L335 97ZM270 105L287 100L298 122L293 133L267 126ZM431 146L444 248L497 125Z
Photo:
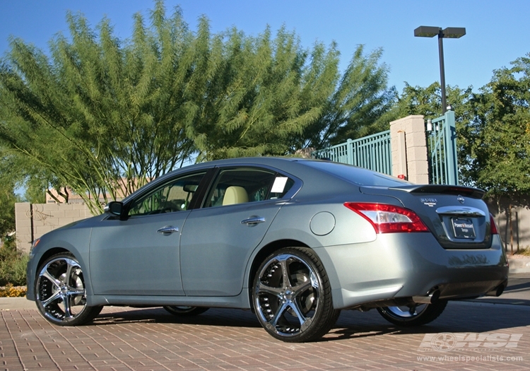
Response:
M206 172L172 179L152 192L133 201L129 216L175 213L189 208L201 179Z

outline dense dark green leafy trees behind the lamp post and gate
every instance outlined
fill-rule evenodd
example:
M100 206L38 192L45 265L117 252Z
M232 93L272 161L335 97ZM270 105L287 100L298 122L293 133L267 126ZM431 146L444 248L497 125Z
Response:
M389 121L409 114L434 119L442 114L440 84L406 85ZM530 192L530 58L494 71L480 93L447 87L455 112L461 184L483 188L490 196Z

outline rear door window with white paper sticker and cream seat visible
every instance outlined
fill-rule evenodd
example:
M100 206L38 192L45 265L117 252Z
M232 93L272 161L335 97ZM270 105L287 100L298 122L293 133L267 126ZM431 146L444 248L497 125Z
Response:
M221 170L206 199L206 207L281 199L294 181L271 170Z

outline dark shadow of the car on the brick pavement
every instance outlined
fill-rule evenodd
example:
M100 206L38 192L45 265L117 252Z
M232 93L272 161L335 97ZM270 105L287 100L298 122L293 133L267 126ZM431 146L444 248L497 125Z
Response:
M212 308L194 317L180 317L161 307L130 308L105 307L93 325L124 323L193 324L202 326L228 326L260 328L255 314L250 310ZM377 310L358 312L343 310L335 326L319 341L338 341L349 338L369 338L383 334L436 334L483 333L492 331L513 332L517 327L530 325L530 307L521 305L474 305L471 302L449 302L446 310L435 321L424 326L401 327L387 322Z

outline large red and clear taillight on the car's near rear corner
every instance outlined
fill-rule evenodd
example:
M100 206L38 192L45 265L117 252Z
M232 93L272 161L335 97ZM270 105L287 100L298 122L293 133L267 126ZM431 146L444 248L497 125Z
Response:
M366 202L346 202L344 206L368 220L377 233L429 231L420 217L408 208Z

